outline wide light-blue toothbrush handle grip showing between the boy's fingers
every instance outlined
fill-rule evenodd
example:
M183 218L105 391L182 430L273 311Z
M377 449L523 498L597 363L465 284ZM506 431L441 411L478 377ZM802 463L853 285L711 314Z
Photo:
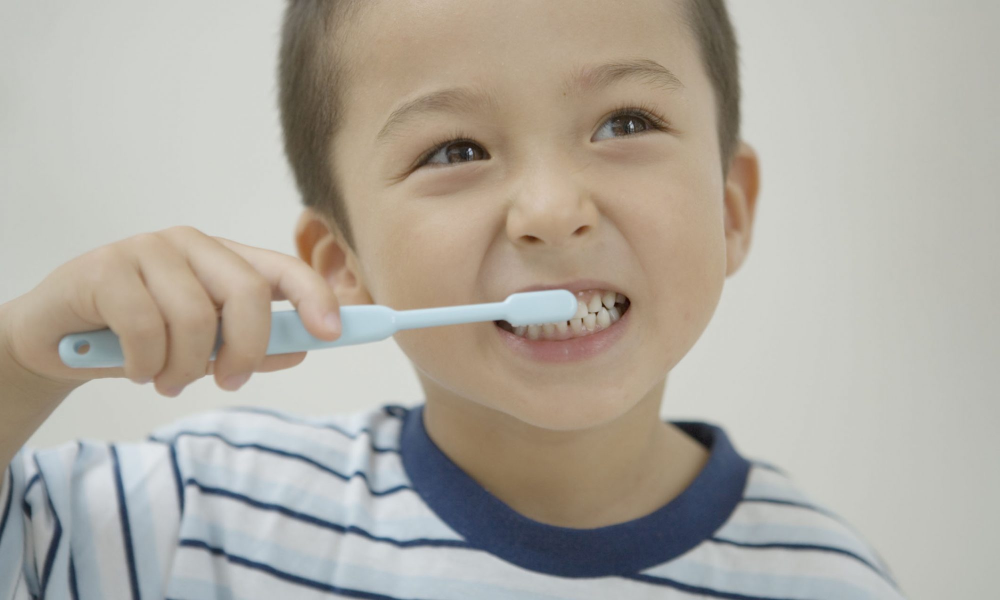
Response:
M395 314L396 311L379 304L342 306L340 337L328 342L313 337L306 331L298 311L274 311L271 313L271 337L265 354L286 354L382 340L396 332ZM76 349L84 344L89 345L89 349L82 354L78 353ZM209 360L215 360L220 346L222 346L221 327L216 333L215 347ZM125 364L121 342L118 335L110 329L63 336L59 341L59 357L66 366L75 368L121 367Z

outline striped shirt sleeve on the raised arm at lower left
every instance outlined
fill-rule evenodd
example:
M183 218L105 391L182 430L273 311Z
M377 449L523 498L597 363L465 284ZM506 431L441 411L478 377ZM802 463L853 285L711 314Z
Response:
M0 484L0 600L163 597L182 491L172 444L21 448Z

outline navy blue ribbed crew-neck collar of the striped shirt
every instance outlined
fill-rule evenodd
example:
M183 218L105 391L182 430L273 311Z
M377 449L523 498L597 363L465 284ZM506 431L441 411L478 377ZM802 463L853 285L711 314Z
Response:
M400 440L403 466L420 497L472 547L551 575L628 575L684 554L729 518L750 470L718 426L670 421L710 452L687 489L632 521L596 529L557 527L515 512L462 471L427 435L423 408L407 411Z

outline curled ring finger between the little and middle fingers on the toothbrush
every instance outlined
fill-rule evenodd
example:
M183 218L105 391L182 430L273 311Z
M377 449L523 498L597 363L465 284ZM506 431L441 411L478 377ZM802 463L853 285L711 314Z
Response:
M174 397L205 376L219 315L185 256L158 233L129 238L146 287L167 325L166 361L155 375L160 394Z

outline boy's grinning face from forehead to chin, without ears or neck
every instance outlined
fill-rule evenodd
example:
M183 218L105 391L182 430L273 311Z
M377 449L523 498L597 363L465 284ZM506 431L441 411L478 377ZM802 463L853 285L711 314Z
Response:
M334 146L364 286L353 297L341 291L342 301L424 308L602 280L631 306L622 335L587 359L525 358L491 322L395 338L428 401L467 399L549 429L604 423L662 392L742 256L729 247L737 238L727 239L713 92L679 2L382 0L370 8L348 27L356 75L344 82ZM623 60L655 61L681 83L671 89L650 74L572 79ZM379 138L403 103L456 87L489 90L495 104L411 114ZM672 130L609 119L640 106ZM471 142L414 167L458 131Z

